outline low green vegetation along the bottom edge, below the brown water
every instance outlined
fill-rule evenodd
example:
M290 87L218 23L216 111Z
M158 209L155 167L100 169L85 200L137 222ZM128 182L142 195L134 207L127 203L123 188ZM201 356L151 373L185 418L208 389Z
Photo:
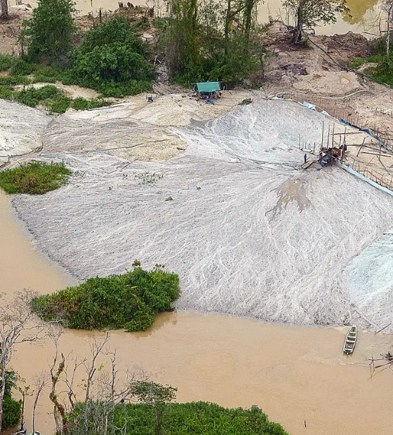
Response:
M79 413L83 406L79 406ZM76 414L78 415L78 413ZM71 435L96 435L93 427L81 431L79 424L70 425ZM124 435L152 435L154 407L149 404L118 404L114 409L114 427ZM251 410L222 408L215 403L168 403L162 416L161 434L166 435L288 435L280 424L269 422L258 407Z

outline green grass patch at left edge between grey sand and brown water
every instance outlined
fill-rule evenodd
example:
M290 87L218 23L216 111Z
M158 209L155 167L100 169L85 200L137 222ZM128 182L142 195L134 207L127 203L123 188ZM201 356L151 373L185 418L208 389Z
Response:
M0 187L7 194L41 195L64 185L70 175L64 163L32 161L0 172Z

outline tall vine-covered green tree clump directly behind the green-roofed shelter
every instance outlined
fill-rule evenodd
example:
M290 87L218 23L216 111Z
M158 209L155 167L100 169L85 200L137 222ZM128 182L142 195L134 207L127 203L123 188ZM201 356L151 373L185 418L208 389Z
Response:
M171 0L171 16L157 19L158 46L173 80L243 83L262 67L263 47L255 11L259 0ZM258 81L254 85L260 84Z

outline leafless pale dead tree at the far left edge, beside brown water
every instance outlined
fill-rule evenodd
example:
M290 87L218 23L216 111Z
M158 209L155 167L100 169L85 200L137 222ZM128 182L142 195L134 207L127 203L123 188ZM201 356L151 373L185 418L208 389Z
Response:
M34 293L25 290L15 295L11 301L2 297L0 307L0 428L3 422L6 370L11 361L15 344L34 342L45 333L44 323L34 317L34 312L30 307L30 302L34 296Z

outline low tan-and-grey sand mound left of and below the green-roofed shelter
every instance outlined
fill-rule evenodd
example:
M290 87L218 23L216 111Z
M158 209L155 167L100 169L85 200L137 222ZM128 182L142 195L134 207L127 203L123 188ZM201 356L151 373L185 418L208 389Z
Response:
M178 135L166 128L131 119L124 105L58 116L44 135L46 154L95 149L149 161L172 159L186 147Z

